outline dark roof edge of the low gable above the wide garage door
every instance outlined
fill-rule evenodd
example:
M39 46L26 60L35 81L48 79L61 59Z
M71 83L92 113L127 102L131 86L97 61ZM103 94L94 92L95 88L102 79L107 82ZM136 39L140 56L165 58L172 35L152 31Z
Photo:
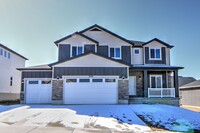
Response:
M78 56L75 56L75 57L71 57L70 59L66 59L66 60L63 60L63 61L57 61L57 62L49 64L49 66L52 67L54 65L57 65L57 64L60 64L60 63L66 62L66 61L74 60L74 59L77 59L77 58L80 58L80 57L83 57L83 56L86 56L86 55L89 55L89 54L97 55L99 57L103 57L105 59L108 59L108 60L123 64L123 65L126 65L126 66L131 66L131 64L125 63L122 60L115 60L113 58L109 58L109 57L106 57L106 56L103 56L103 55L99 55L99 54L94 53L94 52L88 52L88 53L81 54L81 55L78 55Z

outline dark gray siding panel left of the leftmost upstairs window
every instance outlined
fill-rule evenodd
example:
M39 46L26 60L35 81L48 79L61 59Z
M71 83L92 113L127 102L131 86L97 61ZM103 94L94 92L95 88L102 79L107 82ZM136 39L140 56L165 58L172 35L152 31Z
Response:
M70 44L60 44L58 51L58 61L63 61L70 58Z

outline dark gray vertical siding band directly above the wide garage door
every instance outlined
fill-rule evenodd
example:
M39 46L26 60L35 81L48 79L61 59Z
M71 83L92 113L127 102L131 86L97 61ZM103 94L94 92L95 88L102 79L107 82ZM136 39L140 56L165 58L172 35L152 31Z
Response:
M127 78L126 67L55 67L54 78L66 75L119 75Z

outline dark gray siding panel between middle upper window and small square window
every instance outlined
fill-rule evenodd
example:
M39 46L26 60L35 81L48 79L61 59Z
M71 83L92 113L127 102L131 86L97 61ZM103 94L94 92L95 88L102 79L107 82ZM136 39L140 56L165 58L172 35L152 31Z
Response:
M126 63L131 64L131 47L122 46L122 60Z

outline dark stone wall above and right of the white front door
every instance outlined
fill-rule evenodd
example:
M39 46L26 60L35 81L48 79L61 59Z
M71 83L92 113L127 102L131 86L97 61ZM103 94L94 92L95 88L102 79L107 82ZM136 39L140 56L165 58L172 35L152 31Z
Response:
M142 71L130 71L129 76L136 76L136 96L144 96L144 85L143 85L143 72Z

